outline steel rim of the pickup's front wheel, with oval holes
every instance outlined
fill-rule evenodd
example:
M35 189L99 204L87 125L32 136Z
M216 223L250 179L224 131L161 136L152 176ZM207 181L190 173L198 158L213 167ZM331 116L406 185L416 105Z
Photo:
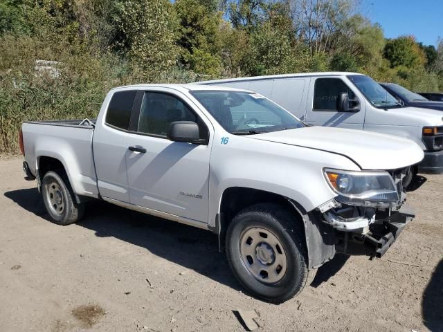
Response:
M282 243L261 227L244 230L239 252L242 264L255 279L264 284L280 282L287 270L287 257Z

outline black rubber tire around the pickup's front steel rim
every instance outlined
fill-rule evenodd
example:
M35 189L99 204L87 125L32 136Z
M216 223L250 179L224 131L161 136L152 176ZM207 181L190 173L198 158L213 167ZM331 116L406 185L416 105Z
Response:
M260 241L266 240L260 238L255 241L256 236L251 240L251 243L255 242L253 252L257 252L256 257L252 257L252 261L258 259L257 262L249 263L251 262L251 256L247 256L248 261L246 262L243 258L242 248L251 239L245 240L245 237L253 230L260 231L263 229L275 236L282 246L282 248L275 249L275 246L268 245L274 249L271 250L274 253L271 257L274 257L275 261L275 257L279 255L279 252L283 252L287 261L284 274L275 283L265 282L263 278L267 278L268 274L265 273L265 277L263 277L263 271L260 272L259 277L262 278L260 280L251 272L253 264L258 264L259 269L260 266L264 266L260 260L260 249L257 249L257 247L262 246ZM262 233L259 232L259 234ZM242 210L234 217L226 232L226 255L230 268L240 284L256 297L272 303L281 303L296 296L307 285L307 282L311 279L309 277L316 272L315 270L308 271L307 268L305 230L302 221L294 212L290 212L282 205L274 203L253 205ZM266 258L269 257L269 255L265 256ZM268 262L265 261L265 263L267 265ZM246 267L247 264L249 264L249 270Z

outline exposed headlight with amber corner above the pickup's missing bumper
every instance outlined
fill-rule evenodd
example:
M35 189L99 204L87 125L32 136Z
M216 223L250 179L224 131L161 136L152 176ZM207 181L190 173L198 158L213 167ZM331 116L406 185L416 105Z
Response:
M350 205L389 206L399 201L388 172L355 172L324 169L327 183L338 194L336 201Z

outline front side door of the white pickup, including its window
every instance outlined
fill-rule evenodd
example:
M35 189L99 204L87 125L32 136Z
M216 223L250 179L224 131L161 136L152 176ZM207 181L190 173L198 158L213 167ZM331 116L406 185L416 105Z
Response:
M143 92L136 127L127 138L129 201L207 223L211 126L191 104L173 89ZM173 121L196 122L206 143L168 140L166 133Z

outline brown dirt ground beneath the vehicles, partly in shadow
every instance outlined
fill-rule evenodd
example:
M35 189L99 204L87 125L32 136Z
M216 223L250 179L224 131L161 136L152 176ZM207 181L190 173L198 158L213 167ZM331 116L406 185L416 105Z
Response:
M244 293L213 234L99 201L48 221L21 158L0 160L0 331L443 331L443 176L382 259L336 257L278 306Z

